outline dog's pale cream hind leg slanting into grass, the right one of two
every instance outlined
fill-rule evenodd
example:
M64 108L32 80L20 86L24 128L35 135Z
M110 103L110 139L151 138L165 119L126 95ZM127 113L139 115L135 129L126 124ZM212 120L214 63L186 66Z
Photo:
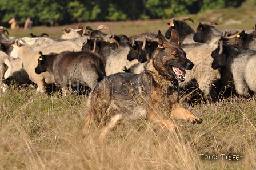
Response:
M103 140L104 140L105 136L107 135L107 133L109 133L111 131L111 129L113 129L115 127L115 124L120 119L122 119L122 114L116 114L116 115L112 116L110 121L101 130L101 135L99 136L99 143L101 143L101 144L103 143Z

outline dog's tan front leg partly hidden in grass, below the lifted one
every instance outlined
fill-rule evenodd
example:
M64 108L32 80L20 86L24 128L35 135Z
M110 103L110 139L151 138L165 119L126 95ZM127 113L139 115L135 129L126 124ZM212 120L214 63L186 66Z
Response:
M174 131L178 126L175 125L171 120L163 119L157 112L154 110L147 111L147 118L153 120L155 123L158 123L161 127L166 127L169 131Z

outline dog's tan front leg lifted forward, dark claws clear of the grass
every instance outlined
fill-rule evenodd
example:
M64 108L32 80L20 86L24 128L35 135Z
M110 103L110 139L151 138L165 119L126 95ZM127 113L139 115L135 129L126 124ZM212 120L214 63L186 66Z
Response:
M191 114L190 111L186 110L185 108L182 108L179 103L173 104L171 114L177 119L187 120L188 122L191 122L193 124L199 124L203 121L202 118L195 117Z

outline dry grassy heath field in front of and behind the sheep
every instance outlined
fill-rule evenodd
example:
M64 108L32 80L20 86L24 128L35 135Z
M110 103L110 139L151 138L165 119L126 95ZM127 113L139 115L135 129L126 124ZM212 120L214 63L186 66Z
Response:
M189 15L194 24L213 21L221 29L251 29L255 5ZM177 16L181 18L183 16ZM165 33L171 19L82 23L110 26L115 34L145 31ZM63 27L9 30L10 36L47 33L59 38ZM0 93L0 169L256 169L256 96L231 96L219 103L183 107L203 118L192 125L174 120L177 132L148 120L123 122L98 144L99 131L91 124L82 139L86 96L38 94L34 87L10 86Z

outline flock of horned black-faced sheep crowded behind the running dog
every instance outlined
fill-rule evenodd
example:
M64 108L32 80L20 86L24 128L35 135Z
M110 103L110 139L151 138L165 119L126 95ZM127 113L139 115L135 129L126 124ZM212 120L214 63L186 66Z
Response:
M184 98L200 94L203 100L216 102L221 96L236 92L249 96L256 91L256 31L217 30L217 23L199 23L194 31L183 17L172 19L165 33L170 39L175 29L186 56L194 63L179 84ZM110 34L101 30L107 29ZM93 30L63 29L61 38L9 37L0 26L1 91L7 82L33 82L37 91L45 92L49 84L58 88L69 85L73 90L91 90L97 83L116 72L143 71L145 63L158 47L157 32L127 37L114 35L106 25ZM230 88L227 88L230 87Z

